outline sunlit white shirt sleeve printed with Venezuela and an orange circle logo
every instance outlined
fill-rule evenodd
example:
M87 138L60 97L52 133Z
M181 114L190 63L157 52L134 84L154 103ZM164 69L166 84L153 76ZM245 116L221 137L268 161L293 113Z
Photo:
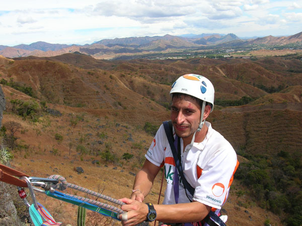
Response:
M196 182L193 200L220 209L228 197L236 164L237 155L231 144L209 152L198 161L202 174Z

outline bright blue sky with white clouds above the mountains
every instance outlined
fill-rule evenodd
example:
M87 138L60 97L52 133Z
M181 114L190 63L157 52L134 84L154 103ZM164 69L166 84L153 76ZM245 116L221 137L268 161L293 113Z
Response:
M302 0L12 0L0 7L0 45L202 33L302 32Z

